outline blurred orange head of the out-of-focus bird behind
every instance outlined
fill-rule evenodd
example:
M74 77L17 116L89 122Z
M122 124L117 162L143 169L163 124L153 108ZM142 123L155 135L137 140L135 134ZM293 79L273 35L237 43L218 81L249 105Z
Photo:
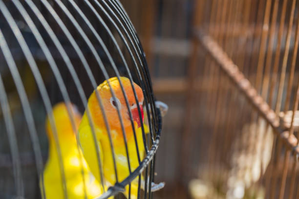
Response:
M81 114L77 110L76 106L70 104L71 107L71 114L74 119L75 127L78 129L80 121L81 121ZM67 112L67 108L64 102L60 102L53 107L53 117L56 125L57 135L59 139L76 139L76 131L74 132L72 128L72 123L70 116ZM49 141L54 139L53 137L53 129L50 125L49 118L46 118L45 128L47 131L47 135Z

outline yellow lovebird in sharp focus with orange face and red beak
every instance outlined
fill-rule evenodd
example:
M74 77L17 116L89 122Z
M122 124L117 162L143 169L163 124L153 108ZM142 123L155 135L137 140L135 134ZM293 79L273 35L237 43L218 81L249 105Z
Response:
M140 159L143 160L145 155L145 148L144 148L142 130L141 130L141 123L142 123L141 120L142 121L144 120L143 92L142 89L136 83L133 83L133 86L136 91L137 99L138 99L138 103L136 103L133 94L132 85L129 79L125 77L120 77L120 80L122 81L124 90L128 98L129 109L131 110L132 113L134 129L137 137L139 155L140 155ZM113 98L111 95L108 81L112 89L114 90L115 98ZM117 113L117 106L120 109L124 129L125 129L125 135L127 138L128 155L130 160L129 163L130 163L131 171L134 171L139 166L139 162L137 158L133 128L129 118L128 107L126 105L125 97L123 95L119 80L116 77L113 77L108 80L105 80L97 87L96 91L93 91L93 93L90 95L88 99L88 104L87 104L87 107L90 111L91 119L93 120L94 123L93 126L96 134L98 147L99 150L102 150L103 153L103 162L102 162L103 173L104 173L103 176L105 178L105 182L107 183L107 185L111 186L114 185L116 182L112 152L111 152L111 147L110 147L107 128L105 125L104 116L99 106L95 92L98 92L99 96L101 97L104 106L104 112L107 116L107 122L109 125L112 144L115 153L118 181L121 182L122 180L124 180L129 176L129 169L128 169L127 153L125 148L125 141L124 141L124 136L121 128L120 119ZM139 117L139 112L137 109L138 106L140 107L141 118ZM146 133L149 132L149 129L145 124L144 124L144 129ZM96 146L94 145L92 131L91 131L90 123L87 118L86 110L83 115L82 121L79 125L78 139L82 147L84 157L90 167L91 172L93 173L95 178L98 181L100 181L101 174L100 174L99 164L97 161L97 155L95 150ZM131 192L130 192L131 199L137 198L137 188L138 188L138 178L134 179L131 182ZM126 186L126 191L124 194L128 198L128 186Z

